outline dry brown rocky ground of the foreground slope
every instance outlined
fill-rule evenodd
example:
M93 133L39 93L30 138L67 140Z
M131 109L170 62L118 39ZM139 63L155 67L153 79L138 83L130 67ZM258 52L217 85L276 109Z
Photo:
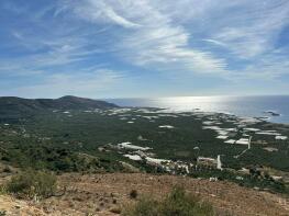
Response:
M63 174L59 194L44 201L23 201L0 195L0 211L5 215L118 215L137 196L160 198L176 184L200 195L221 215L289 215L289 200L277 194L238 186L230 182L210 182L173 175L112 173L81 175Z

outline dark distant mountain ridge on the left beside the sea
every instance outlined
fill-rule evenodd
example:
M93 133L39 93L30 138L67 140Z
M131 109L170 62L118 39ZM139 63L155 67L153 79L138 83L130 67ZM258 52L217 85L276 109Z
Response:
M15 120L49 110L93 110L118 107L105 101L63 96L59 99L21 99L0 96L0 120Z

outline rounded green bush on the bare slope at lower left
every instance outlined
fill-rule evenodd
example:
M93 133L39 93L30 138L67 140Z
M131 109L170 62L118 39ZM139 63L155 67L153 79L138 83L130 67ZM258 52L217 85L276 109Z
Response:
M27 170L12 177L5 191L19 197L46 198L55 194L56 187L56 175L52 172Z

